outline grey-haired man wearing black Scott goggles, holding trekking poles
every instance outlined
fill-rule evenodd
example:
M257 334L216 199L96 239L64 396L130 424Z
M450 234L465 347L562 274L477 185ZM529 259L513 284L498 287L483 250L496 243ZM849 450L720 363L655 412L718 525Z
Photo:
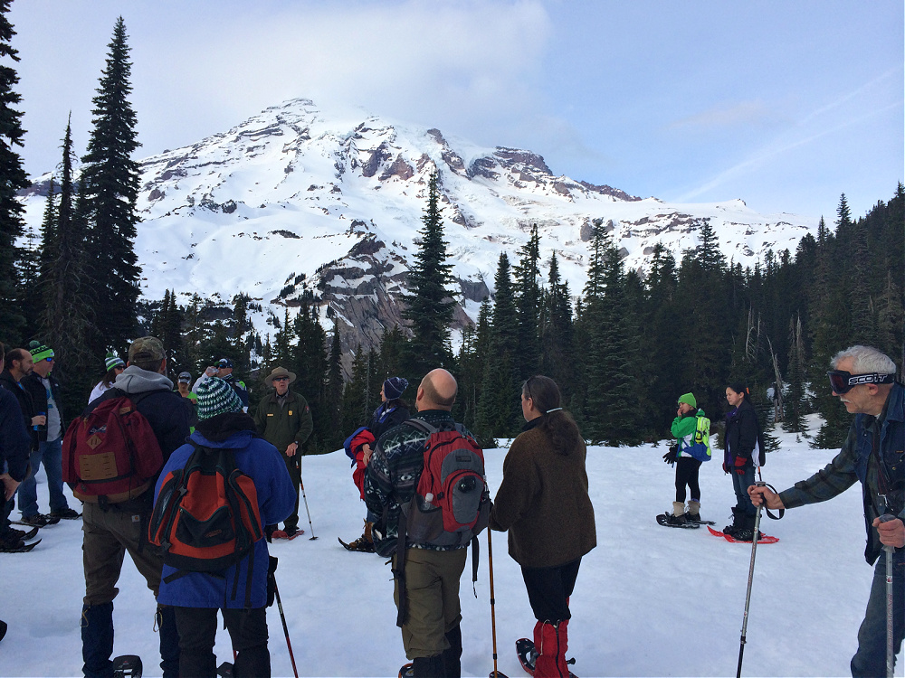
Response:
M837 353L827 372L833 394L855 415L842 450L823 470L775 494L752 485L755 505L795 508L832 499L861 481L867 548L873 564L884 547L893 551L893 652L905 636L905 388L895 381L891 358L869 346ZM892 516L881 522L881 516ZM886 675L886 563L877 562L867 612L852 657L853 676Z

